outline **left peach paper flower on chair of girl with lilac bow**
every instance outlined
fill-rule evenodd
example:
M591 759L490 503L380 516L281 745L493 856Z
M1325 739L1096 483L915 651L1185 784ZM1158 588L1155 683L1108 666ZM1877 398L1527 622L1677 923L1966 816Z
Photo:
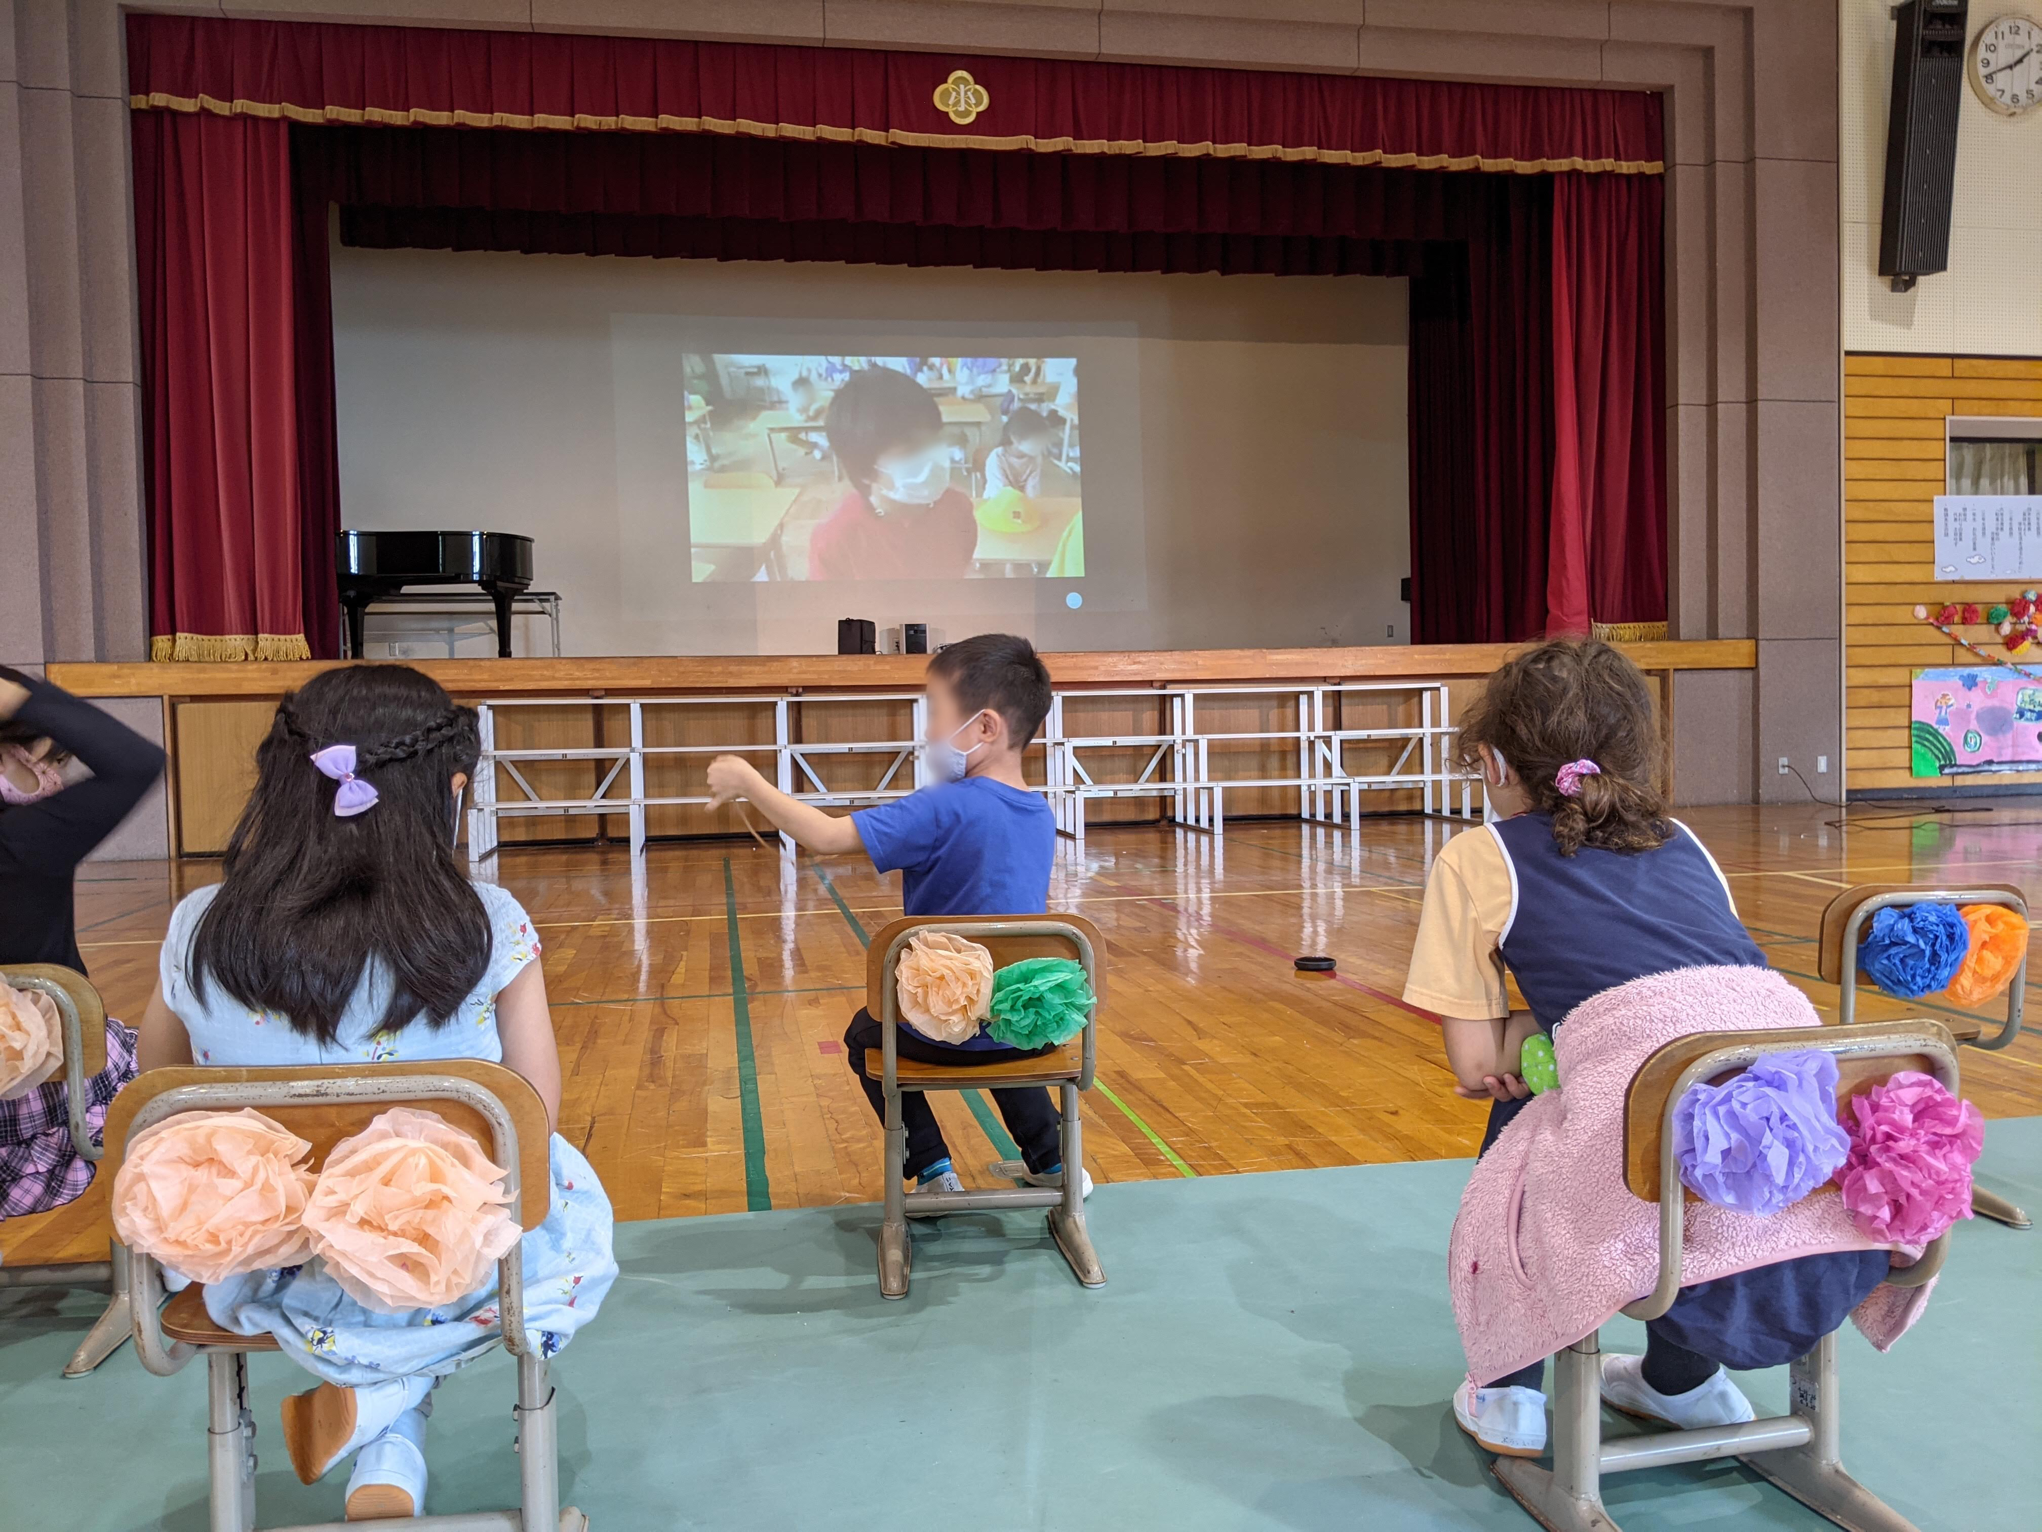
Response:
M306 1256L312 1146L259 1111L180 1111L137 1134L114 1177L114 1232L194 1283Z

